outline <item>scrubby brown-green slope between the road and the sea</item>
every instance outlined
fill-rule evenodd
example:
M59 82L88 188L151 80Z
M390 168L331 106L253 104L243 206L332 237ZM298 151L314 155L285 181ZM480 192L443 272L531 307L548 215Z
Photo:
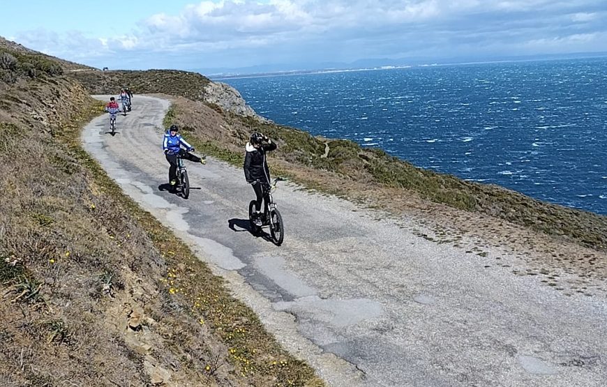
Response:
M279 142L273 165L313 188L360 197L374 188L393 188L393 195L415 195L431 202L478 212L530 227L555 238L597 250L607 249L607 217L548 204L497 185L463 181L414 167L379 149L361 148L338 139L262 123L179 98L167 121L181 124L200 139L197 148L240 166L243 144L253 130Z

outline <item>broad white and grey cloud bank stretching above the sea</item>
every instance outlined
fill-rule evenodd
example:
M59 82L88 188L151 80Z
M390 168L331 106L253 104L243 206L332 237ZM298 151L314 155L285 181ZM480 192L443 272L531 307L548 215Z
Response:
M528 53L532 47L541 53L559 44L563 50L607 50L607 43L591 38L607 30L600 23L606 15L604 0L206 0L151 15L126 36L34 31L19 38L69 59L123 55L140 60L139 67L183 68L202 58L204 66L238 67L498 54L500 47L504 54ZM172 56L170 62L158 55L163 52Z

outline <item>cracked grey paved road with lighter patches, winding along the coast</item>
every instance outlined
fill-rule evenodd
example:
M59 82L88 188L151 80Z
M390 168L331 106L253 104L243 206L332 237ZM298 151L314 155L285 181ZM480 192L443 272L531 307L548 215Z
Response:
M604 386L607 303L564 296L397 222L285 183L276 247L247 230L243 172L188 164L190 199L159 190L169 103L136 96L84 148L123 190L190 243L283 345L333 386ZM184 134L187 137L187 133Z

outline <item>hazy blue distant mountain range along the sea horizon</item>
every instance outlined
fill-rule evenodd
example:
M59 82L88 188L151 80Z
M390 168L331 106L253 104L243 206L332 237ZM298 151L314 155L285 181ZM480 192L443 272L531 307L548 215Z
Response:
M580 59L607 56L607 52L576 52L571 54L541 54L526 56L493 56L493 57L453 57L453 58L373 58L359 59L350 63L345 62L321 62L321 63L276 63L241 68L193 68L190 71L201 73L212 79L262 76L262 75L286 75L317 73L330 70L354 70L364 68L404 67L422 65L445 65L455 63L478 63L497 61L532 61L532 60L555 60L555 59Z

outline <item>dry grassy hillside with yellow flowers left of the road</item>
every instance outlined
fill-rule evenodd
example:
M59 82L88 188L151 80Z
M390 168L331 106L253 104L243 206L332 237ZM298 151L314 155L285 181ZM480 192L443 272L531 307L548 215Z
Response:
M0 386L322 385L82 150L63 64L1 50Z

